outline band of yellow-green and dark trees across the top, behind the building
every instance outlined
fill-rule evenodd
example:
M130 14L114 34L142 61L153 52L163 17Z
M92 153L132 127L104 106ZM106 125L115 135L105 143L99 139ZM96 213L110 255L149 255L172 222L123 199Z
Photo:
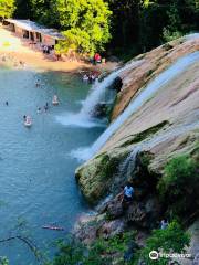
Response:
M17 18L32 19L64 32L67 41L60 43L60 51L70 47L88 53L106 50L132 57L199 30L198 0L15 1ZM13 0L0 0L0 7L9 2ZM7 11L12 13L13 10L7 8Z

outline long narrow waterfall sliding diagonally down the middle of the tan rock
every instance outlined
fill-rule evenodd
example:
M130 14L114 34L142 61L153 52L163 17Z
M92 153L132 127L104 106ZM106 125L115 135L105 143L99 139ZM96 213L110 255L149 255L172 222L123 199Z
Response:
M169 68L151 81L143 89L128 107L121 114L115 121L100 136L91 148L78 149L72 152L77 159L86 160L94 156L108 140L108 138L121 127L121 125L135 113L144 103L148 100L158 89L182 73L189 65L199 60L199 52L191 53L177 60Z

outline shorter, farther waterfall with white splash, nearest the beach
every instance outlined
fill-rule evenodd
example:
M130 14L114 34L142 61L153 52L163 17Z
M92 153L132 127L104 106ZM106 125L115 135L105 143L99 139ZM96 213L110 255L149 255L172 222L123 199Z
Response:
M95 126L104 126L104 123L98 119L92 117L93 109L95 106L103 99L106 88L109 87L114 80L124 71L128 68L133 70L143 63L143 60L132 61L126 64L124 67L121 67L113 73L111 73L107 77L105 77L102 82L97 82L91 88L91 92L87 98L83 102L83 106L80 113L77 114L66 114L64 116L56 117L57 121L65 126L77 126L77 127L95 127Z

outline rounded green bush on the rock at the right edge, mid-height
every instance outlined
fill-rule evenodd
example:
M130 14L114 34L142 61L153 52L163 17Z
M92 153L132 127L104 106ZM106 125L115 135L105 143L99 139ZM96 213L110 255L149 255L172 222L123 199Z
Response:
M161 197L174 199L175 197L184 197L189 188L196 187L198 180L195 160L187 156L179 156L167 163L157 188Z

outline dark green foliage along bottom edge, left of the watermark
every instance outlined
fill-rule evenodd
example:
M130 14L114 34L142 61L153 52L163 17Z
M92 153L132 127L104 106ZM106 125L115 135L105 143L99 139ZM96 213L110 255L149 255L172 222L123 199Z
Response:
M127 244L133 240L132 233L115 235L108 240L98 239L88 247L74 240L59 243L59 253L49 265L109 265L114 256L123 259ZM124 264L124 262L123 262Z

